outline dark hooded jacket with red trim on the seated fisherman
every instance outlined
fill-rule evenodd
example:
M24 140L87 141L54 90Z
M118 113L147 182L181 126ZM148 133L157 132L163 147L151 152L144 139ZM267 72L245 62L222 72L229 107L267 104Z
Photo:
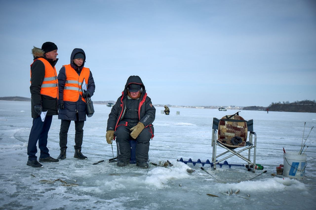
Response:
M139 76L130 76L127 79L125 88L122 95L118 98L115 105L112 107L111 113L109 114L109 119L107 120L106 131L115 131L119 121L124 118L126 103L127 103L127 86L135 83L142 86L142 94L138 102L138 118L139 122L143 123L145 127L152 126L155 120L156 109L151 103L151 99L147 96L145 86Z

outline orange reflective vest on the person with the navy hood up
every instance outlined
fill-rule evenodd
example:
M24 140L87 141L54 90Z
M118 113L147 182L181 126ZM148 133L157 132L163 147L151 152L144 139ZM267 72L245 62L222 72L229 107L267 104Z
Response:
M82 96L82 82L85 80L88 87L88 79L90 76L90 69L83 67L80 75L73 69L70 64L64 65L66 74L66 83L64 87L64 101L76 102L79 99L79 95ZM86 102L84 98L82 101Z

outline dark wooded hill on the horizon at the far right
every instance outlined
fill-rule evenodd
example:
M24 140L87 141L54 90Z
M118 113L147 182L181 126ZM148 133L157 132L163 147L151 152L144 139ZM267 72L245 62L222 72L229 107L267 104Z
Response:
M313 112L316 113L316 101L303 100L295 102L272 102L268 107L250 106L244 107L244 110L267 110L278 112Z

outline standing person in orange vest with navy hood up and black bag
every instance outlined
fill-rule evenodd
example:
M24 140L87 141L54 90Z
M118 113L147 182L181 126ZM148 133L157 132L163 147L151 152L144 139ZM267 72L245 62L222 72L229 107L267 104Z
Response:
M67 136L72 120L75 121L74 158L87 158L81 153L83 125L86 120L85 98L93 96L95 85L90 69L84 67L85 62L86 54L84 51L75 48L70 56L70 64L64 65L58 74L58 119L61 119L59 132L60 155L58 159L60 160L66 158ZM86 90L84 90L84 85L87 88Z

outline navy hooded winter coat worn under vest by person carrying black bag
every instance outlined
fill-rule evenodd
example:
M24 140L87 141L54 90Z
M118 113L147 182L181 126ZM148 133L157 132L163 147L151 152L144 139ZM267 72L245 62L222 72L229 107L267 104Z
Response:
M81 67L77 67L74 62L73 58L77 53L83 53L84 55L84 61L82 63ZM70 56L70 65L73 69L76 70L78 75L80 75L81 70L84 66L84 63L86 61L86 54L82 49L75 48ZM66 83L66 73L65 73L65 67L62 67L58 73L58 86L59 86L59 100L58 103L64 104L64 109L59 109L58 119L61 120L79 120L79 121L85 121L86 120L86 103L82 101L82 96L79 95L79 99L77 102L70 102L70 101L64 101L64 87ZM88 79L88 86L87 89L90 93L90 96L93 96L95 85L94 85L94 79L92 77L92 73L90 71L90 76ZM79 119L77 119L76 113L78 112Z

